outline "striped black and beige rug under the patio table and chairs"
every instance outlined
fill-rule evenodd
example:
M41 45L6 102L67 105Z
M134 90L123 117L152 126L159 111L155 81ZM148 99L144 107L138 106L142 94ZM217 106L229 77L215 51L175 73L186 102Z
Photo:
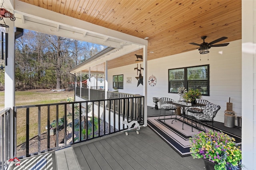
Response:
M197 134L199 130L193 126L192 132L191 121L187 119L186 121L188 122L184 122L184 128L182 129L183 118L181 116L177 116L177 120L175 121L174 117L174 115L172 118L171 116L166 116L165 122L163 116L161 116L160 119L158 119L158 116L148 117L148 127L150 127L156 134L158 134L158 136L160 136L167 144L169 144L178 154L180 154L180 156L190 156L191 152L189 138L192 135ZM209 125L204 125L204 127L206 130L209 128L212 129L212 127ZM222 131L228 134L230 137L235 138L238 144L241 144L241 137L230 134L229 132L218 128L214 128L214 130Z

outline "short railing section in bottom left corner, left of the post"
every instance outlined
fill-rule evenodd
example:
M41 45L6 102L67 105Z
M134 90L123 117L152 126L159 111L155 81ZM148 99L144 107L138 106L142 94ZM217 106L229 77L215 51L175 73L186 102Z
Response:
M11 146L11 140L14 140L14 133L11 131L10 120L13 119L10 117L10 108L6 108L0 111L0 160L1 160L1 170L4 170L6 166L6 161L14 155L13 147ZM15 121L15 119L14 119ZM15 129L14 129L15 131Z

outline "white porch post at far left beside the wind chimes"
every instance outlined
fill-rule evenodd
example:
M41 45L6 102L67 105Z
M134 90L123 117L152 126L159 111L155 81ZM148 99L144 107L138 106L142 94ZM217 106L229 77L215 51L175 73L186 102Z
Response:
M9 19L9 18L7 18ZM10 107L10 117L13 117L13 107L15 106L15 63L14 63L14 22L5 20L6 25L9 28L6 28L6 33L8 33L8 58L7 65L5 65L5 74L4 74L4 107ZM10 132L13 132L13 119L10 119ZM10 136L10 150L13 148L13 137ZM13 153L11 152L10 158L13 158Z

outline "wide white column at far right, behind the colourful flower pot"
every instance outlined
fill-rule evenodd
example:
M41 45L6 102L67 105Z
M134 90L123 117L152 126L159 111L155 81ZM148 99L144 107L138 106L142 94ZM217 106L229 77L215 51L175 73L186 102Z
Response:
M256 169L256 1L242 0L242 164Z

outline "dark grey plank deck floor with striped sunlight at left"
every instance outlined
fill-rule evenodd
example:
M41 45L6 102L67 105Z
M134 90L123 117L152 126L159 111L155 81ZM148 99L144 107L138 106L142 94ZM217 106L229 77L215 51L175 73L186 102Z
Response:
M149 115L159 110L148 109ZM237 128L230 128L237 130ZM15 170L204 170L202 159L181 157L149 127L118 132L22 159Z

